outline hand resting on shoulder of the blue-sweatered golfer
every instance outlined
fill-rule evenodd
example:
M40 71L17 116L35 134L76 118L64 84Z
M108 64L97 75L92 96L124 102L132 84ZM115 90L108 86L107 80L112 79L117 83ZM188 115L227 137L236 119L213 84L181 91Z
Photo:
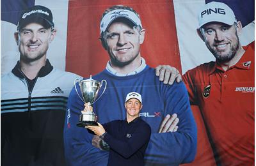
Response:
M172 85L174 80L180 82L182 80L179 70L169 65L159 65L156 67L156 75L164 84Z

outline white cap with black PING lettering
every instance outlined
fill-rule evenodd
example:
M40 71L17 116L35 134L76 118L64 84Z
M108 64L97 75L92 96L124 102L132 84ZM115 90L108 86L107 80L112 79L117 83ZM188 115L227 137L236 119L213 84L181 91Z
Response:
M224 24L232 25L237 22L233 10L225 3L211 2L205 4L198 13L199 27L204 26L208 22L222 22Z

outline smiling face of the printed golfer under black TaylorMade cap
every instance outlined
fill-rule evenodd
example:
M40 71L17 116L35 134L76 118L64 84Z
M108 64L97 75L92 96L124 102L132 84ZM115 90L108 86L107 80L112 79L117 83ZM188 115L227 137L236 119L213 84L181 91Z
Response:
M51 31L51 28L45 29L42 25L36 23L23 27L19 36L16 35L20 59L36 61L46 56L49 43L53 40L55 33L55 31Z

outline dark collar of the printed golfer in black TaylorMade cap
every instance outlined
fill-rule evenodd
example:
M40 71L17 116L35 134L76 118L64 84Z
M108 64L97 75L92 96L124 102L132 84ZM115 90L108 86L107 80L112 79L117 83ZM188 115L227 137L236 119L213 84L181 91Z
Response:
M42 68L39 70L38 77L45 77L45 75L52 72L52 69L53 69L53 66L47 59L45 62L45 66L42 66ZM24 75L21 73L21 70L20 70L20 61L17 62L17 64L12 70L12 73L17 77L19 77L20 79L24 79Z

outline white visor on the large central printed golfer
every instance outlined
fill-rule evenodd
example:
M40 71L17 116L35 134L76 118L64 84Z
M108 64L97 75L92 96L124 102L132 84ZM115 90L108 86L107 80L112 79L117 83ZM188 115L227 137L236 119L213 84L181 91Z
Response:
M104 15L100 22L100 33L105 32L108 26L113 22L113 20L120 17L129 19L133 24L142 28L141 20L134 12L130 10L118 9L110 11L109 13Z

